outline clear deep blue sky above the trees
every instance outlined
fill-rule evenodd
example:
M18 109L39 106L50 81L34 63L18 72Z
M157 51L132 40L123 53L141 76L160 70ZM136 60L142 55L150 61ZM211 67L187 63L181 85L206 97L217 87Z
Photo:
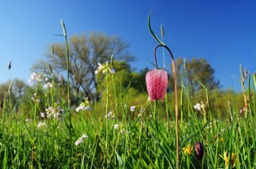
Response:
M223 89L240 91L239 65L256 69L256 1L254 0L2 0L0 6L0 83L27 81L31 66L44 59L48 45L63 42L60 19L68 36L99 31L119 35L136 57L134 69L153 68L157 45L147 28L160 35L164 24L165 43L175 58L205 58L215 69ZM167 53L166 53L167 54ZM167 57L166 62L171 64ZM235 78L234 78L235 76Z

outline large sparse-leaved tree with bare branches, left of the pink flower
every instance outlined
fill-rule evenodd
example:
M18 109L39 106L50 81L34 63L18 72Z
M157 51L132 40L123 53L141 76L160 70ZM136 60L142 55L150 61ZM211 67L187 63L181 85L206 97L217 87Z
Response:
M81 98L79 93L82 91L83 96L90 100L99 100L100 93L97 93L97 81L95 70L98 63L110 61L110 57L114 59L122 59L129 62L133 59L131 54L127 52L129 45L117 36L107 36L103 33L90 33L89 37L82 35L73 35L68 42L70 57L70 85L73 88L77 100ZM47 69L50 63L55 79L59 74L65 74L66 56L65 45L62 43L54 43L49 47L46 53L46 62L38 62L33 66L34 71L44 71L45 74L51 74Z

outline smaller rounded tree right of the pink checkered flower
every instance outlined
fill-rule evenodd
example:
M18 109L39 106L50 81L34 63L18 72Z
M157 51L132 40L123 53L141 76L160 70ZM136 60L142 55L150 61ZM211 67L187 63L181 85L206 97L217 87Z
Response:
M220 88L220 81L215 81L213 76L214 69L206 59L192 58L191 61L184 60L183 62L183 59L180 57L176 60L176 73L178 87L181 88L183 83L189 88L191 95L194 95L196 91L203 89L203 86L206 86L208 90Z

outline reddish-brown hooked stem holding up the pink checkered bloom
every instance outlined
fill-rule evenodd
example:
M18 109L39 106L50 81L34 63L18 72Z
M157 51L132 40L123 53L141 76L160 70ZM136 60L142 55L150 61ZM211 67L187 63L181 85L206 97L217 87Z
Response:
M171 53L171 49L167 47L166 45L157 45L154 49L154 57L156 62L156 49L158 47L164 47L168 50L169 54L171 55L171 62L172 62L172 68L173 68L173 74L174 74L174 95L175 95L175 118L176 118L176 168L178 169L178 163L179 163L179 146L178 146L178 93L177 93L177 84L176 84L176 71L175 71L175 61L174 61L174 55ZM156 62L156 68L157 68L157 62Z

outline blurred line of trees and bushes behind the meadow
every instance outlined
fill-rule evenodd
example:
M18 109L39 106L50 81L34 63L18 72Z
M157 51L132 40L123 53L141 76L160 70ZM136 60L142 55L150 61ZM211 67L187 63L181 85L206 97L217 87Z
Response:
M107 36L103 33L90 33L88 36L73 35L70 37L68 47L70 103L74 107L78 106L84 98L88 98L100 111L102 110L101 100L112 97L104 93L105 76L95 74L99 66L106 62L114 69L114 80L112 79L114 91L110 91L112 95L113 93L123 95L121 98L129 100L130 105L142 104L147 99L145 74L149 68L139 72L132 71L129 62L134 61L134 57L127 50L129 45L120 37ZM14 79L0 85L0 101L6 105L6 108L10 110L15 108L18 112L29 113L28 110L33 105L31 102L38 99L38 112L43 111L46 108L43 106L44 102L47 100L43 100L42 97L47 98L47 95L50 97L50 92L58 93L53 99L56 104L64 102L67 97L65 94L67 90L65 45L62 43L49 45L45 57L46 59L32 66L31 71L34 73L31 75L30 84ZM242 94L221 90L220 81L215 79L214 69L206 59L178 58L176 70L179 99L186 101L188 100L186 98L190 98L189 100L194 101L193 103L182 102L186 105L181 106L193 107L196 103L201 103L221 113L225 113L230 104L237 106L238 109L244 106ZM172 100L173 89L173 77L169 74L167 88L169 100ZM172 104L172 101L170 103Z

